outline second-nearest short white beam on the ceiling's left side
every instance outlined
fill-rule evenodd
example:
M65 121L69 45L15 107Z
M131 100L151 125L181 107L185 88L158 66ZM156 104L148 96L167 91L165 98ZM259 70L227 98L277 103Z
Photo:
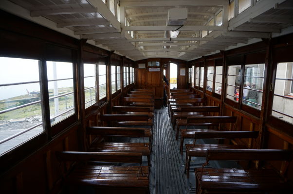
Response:
M58 23L57 28L73 27L73 26L96 26L96 25L108 25L109 21L103 17L97 17L94 19L78 19L76 21Z

